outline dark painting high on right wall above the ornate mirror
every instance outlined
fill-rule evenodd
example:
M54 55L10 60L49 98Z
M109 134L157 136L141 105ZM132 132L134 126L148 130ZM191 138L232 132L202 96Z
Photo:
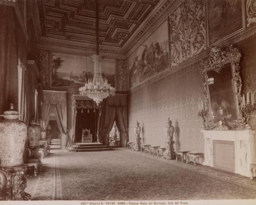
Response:
M243 30L242 0L207 0L208 45Z

